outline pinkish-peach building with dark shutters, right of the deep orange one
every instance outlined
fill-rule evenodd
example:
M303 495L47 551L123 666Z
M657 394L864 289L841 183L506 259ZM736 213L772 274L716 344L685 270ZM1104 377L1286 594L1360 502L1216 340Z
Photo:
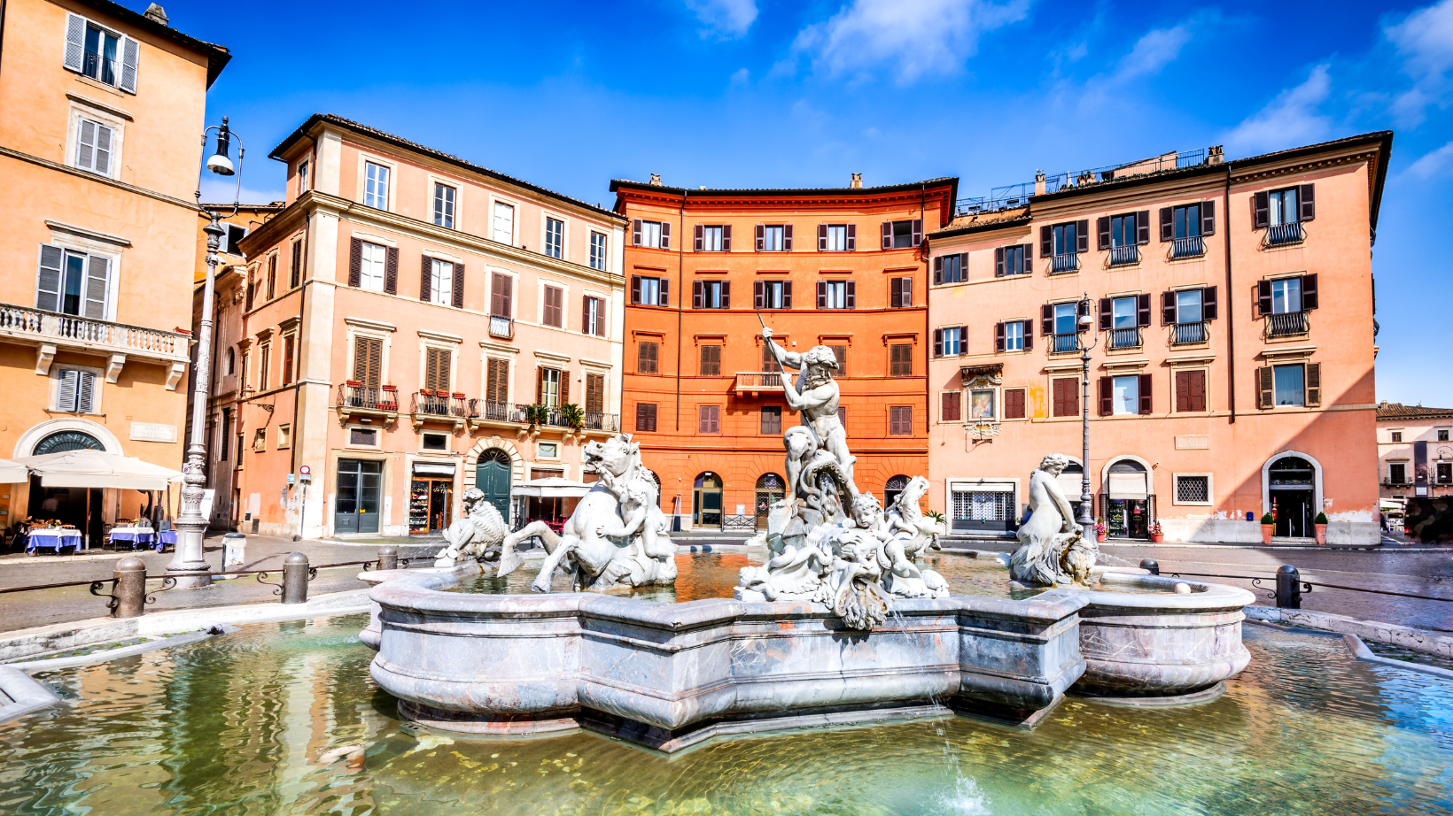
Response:
M931 505L1010 536L1049 452L1112 537L1377 542L1372 235L1391 132L1045 177L930 232ZM1010 200L1016 199L1016 200ZM1087 327L1078 318L1088 315ZM1090 462L1081 348L1093 344Z

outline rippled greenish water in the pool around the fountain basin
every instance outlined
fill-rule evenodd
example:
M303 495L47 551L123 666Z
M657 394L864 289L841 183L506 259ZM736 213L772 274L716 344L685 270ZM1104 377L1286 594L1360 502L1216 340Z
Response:
M1068 698L1032 732L944 719L711 742L667 759L590 733L416 732L369 680L365 624L260 623L41 675L65 700L0 726L0 813L1453 810L1453 682L1357 662L1340 637L1248 624L1251 666L1196 707ZM320 764L350 745L362 761Z

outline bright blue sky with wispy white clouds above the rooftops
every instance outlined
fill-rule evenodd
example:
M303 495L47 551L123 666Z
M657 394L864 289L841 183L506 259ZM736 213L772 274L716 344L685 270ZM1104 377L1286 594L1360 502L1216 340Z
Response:
M141 6L139 3L134 3ZM960 196L1221 144L1231 158L1396 131L1373 270L1377 396L1453 405L1453 0L645 0L167 4L232 49L208 121L266 154L330 112L587 202L610 179ZM209 186L208 197L231 197ZM1440 238L1425 238L1438 235ZM1447 306L1441 306L1447 309Z

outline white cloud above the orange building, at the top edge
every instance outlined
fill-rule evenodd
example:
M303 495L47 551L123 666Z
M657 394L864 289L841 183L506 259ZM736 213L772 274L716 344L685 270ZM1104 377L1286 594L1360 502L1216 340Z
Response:
M1029 0L995 6L984 0L853 0L814 23L792 44L790 70L799 57L827 74L891 65L899 83L958 71L978 48L979 35L1024 17ZM780 73L780 71L777 71Z

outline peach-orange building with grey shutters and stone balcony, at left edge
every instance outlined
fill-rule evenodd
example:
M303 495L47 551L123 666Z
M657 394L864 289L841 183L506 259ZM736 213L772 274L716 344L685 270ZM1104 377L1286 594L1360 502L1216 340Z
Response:
M155 4L7 0L0 30L0 456L99 449L180 470L193 196L230 55ZM0 524L61 518L92 546L148 501L36 478L0 494Z

